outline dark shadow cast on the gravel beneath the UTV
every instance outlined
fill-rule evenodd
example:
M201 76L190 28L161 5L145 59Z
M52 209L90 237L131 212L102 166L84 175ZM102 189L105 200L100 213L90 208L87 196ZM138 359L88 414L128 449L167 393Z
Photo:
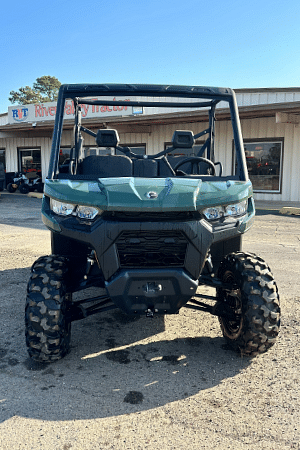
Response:
M226 348L216 318L184 308L167 318L114 310L74 322L71 352L56 363L36 363L24 339L29 269L0 275L0 422L149 410L219 385L251 363Z

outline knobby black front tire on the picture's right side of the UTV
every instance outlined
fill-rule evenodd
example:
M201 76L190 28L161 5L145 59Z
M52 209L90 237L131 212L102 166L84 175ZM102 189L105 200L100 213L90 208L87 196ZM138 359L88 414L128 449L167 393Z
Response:
M217 290L219 300L236 314L236 320L219 318L223 336L242 355L265 352L280 327L278 289L270 268L254 254L237 252L225 257L218 276L235 285L232 291Z

